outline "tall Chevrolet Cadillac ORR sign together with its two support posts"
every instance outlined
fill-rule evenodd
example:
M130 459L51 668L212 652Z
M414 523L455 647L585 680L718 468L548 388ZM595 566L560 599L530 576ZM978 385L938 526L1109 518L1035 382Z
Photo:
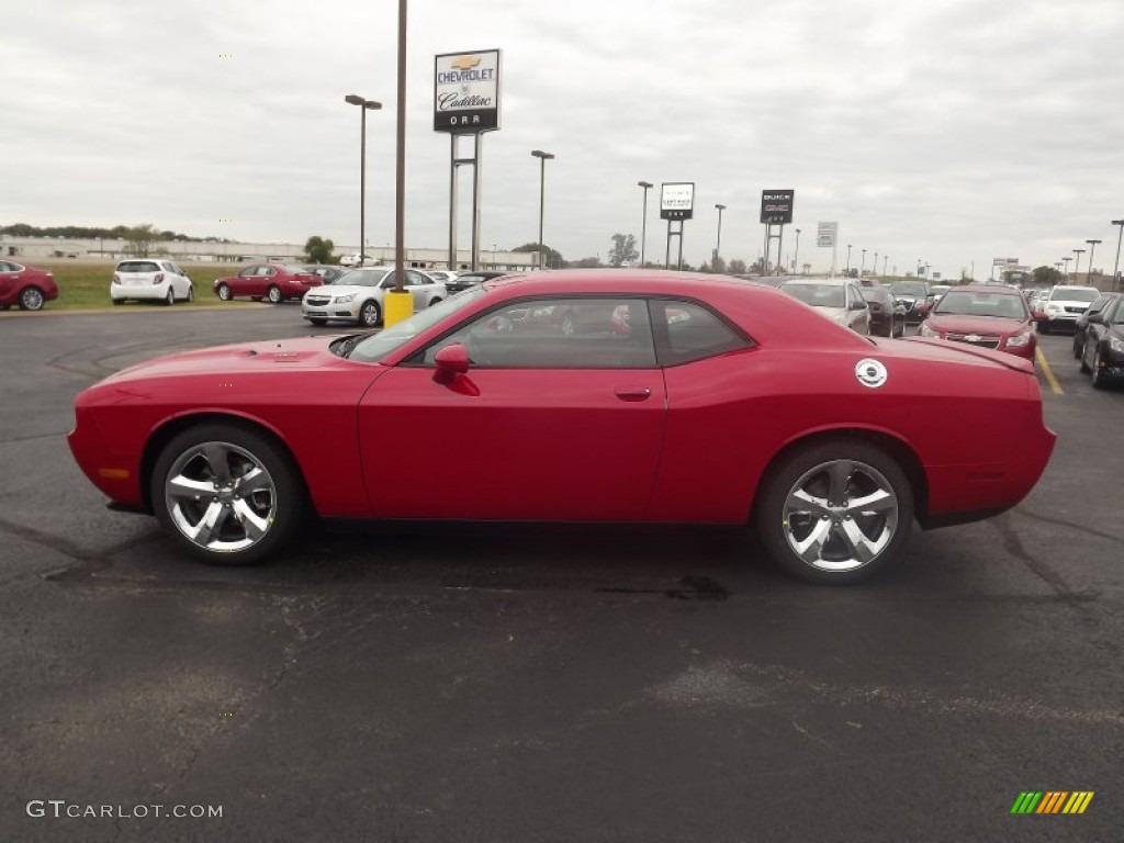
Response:
M500 51L478 49L444 53L434 57L433 130L452 137L448 189L448 269L456 261L457 167L472 167L472 269L480 264L480 185L482 183L483 134L500 126ZM457 155L462 135L473 138L472 157Z

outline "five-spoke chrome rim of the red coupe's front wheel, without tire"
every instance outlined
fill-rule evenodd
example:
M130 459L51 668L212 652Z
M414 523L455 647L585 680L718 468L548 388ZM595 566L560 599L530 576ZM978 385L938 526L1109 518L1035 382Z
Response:
M190 542L215 553L257 544L277 517L277 484L248 451L203 442L172 463L164 499L172 523Z

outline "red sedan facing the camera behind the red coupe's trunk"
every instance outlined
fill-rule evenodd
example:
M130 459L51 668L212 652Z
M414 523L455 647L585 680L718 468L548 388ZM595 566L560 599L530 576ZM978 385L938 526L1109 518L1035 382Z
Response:
M1034 316L1023 293L986 284L949 290L922 323L921 335L998 348L1034 360Z

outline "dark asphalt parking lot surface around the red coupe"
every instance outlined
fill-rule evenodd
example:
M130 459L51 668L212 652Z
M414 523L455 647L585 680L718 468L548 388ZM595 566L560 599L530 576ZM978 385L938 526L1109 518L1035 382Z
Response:
M692 529L315 535L214 569L74 465L96 379L309 333L291 305L0 318L4 839L1120 840L1124 390L1070 337L1041 338L1035 491L852 589ZM1027 790L1095 797L1012 815Z

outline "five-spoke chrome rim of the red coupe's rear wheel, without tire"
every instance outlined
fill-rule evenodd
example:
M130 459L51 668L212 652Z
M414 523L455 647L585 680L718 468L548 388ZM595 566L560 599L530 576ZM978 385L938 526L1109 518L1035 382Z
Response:
M898 528L898 498L864 462L833 460L805 472L783 507L788 546L822 571L852 571L873 561Z

